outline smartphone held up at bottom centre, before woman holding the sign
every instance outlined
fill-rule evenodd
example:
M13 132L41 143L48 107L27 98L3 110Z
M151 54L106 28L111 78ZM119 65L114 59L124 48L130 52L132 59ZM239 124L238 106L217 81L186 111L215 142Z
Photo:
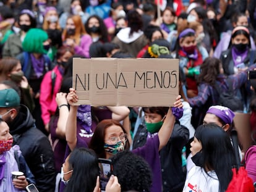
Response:
M98 164L100 167L100 188L101 191L105 191L106 184L113 172L113 164L110 159L98 158Z

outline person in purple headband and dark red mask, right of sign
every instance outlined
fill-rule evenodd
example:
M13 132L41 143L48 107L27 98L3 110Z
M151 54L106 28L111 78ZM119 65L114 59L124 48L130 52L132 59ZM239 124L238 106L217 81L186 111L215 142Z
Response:
M185 94L188 98L197 96L197 82L195 77L200 73L200 65L204 57L197 48L195 31L191 28L183 30L177 39L176 58L179 60L181 81L186 85Z

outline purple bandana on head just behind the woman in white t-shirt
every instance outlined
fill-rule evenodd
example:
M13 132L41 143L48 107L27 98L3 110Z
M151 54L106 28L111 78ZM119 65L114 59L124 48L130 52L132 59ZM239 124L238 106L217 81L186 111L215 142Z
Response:
M207 114L214 114L217 117L219 117L221 120L223 120L224 123L227 123L231 125L234 119L234 112L231 111L228 107L223 107L223 106L211 106Z

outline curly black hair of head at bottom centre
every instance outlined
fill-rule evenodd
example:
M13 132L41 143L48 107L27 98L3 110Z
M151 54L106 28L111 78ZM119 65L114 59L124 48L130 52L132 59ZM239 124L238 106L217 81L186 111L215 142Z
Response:
M150 191L152 173L148 163L130 152L119 152L111 158L113 174L117 176L122 191Z

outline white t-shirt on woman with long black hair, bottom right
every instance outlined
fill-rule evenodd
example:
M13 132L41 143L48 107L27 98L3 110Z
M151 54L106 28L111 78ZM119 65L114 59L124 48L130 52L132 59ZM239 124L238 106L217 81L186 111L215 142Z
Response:
M219 187L220 183L214 170L206 173L202 167L195 166L187 175L183 192L219 192Z

